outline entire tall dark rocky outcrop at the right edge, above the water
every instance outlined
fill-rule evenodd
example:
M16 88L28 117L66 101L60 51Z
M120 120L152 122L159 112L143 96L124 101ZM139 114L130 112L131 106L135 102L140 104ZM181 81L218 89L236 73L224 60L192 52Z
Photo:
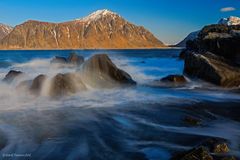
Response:
M222 87L240 86L240 25L205 26L182 53L185 74Z

